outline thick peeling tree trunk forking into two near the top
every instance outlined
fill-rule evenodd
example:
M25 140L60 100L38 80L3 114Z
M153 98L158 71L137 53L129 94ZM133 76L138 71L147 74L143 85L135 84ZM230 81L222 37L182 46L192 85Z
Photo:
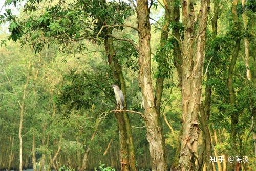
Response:
M182 43L182 136L180 170L195 170L195 154L199 135L198 112L202 89L202 70L205 56L205 30L209 1L201 1L198 27L193 1L182 1L184 40Z

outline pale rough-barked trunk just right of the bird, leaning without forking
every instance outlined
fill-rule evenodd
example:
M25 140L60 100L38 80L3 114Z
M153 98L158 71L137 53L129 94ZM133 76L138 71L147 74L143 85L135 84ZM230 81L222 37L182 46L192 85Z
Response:
M144 119L147 140L150 146L152 170L167 170L165 142L162 135L160 116L156 111L151 78L151 46L148 1L137 1L137 23L139 30L139 86L144 98Z

